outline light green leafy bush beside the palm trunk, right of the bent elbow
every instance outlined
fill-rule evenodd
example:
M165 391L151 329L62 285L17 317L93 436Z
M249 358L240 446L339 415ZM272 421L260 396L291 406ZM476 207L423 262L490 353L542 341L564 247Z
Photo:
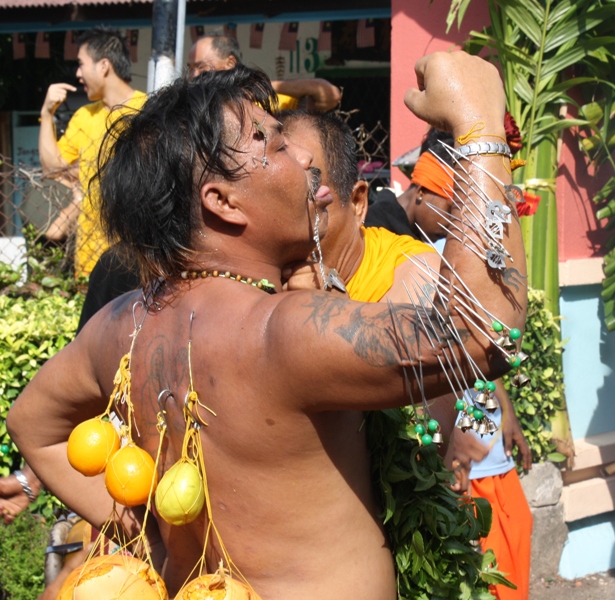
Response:
M530 382L525 387L516 388L510 384L514 372L504 377L504 386L532 450L533 462L559 462L565 458L555 452L555 443L551 439L551 421L556 412L565 407L561 354L566 342L560 339L559 320L560 317L555 317L545 307L545 293L530 289L521 345L529 357L521 370Z

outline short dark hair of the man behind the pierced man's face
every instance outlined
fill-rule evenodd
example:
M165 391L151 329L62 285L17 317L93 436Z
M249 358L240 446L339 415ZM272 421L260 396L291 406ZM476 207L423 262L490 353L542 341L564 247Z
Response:
M323 147L329 184L345 206L359 178L357 145L350 127L344 121L329 113L304 110L283 110L277 118L285 125L296 122L308 123L316 129ZM301 145L301 140L296 140Z

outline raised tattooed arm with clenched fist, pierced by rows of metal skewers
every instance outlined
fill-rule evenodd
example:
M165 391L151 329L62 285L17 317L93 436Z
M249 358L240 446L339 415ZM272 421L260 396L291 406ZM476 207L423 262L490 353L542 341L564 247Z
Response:
M319 381L316 410L407 403L403 379L392 376L402 365L415 398L422 392L427 397L450 392L450 381L461 390L480 376L494 380L510 367L495 344L500 334L492 323L502 324L504 334L522 330L525 323L525 253L519 220L507 197L510 161L500 141L505 140L505 98L497 70L478 57L455 52L421 59L416 72L419 86L407 93L408 107L434 127L451 131L456 145L467 143L470 134L481 153L468 159L459 155L439 275L425 268L437 289L434 303L409 298L408 304L362 305L322 293L289 295L280 303L271 326L279 336L286 332L289 343L278 347L277 359L291 368L305 363L307 349L310 364L294 369L297 399L302 386L310 389L311 382ZM474 132L480 137L471 137ZM493 151L484 154L483 148ZM501 237L495 239L489 230L494 207L502 216L496 223ZM410 289L424 283L407 282ZM297 322L307 336L300 347L288 336Z

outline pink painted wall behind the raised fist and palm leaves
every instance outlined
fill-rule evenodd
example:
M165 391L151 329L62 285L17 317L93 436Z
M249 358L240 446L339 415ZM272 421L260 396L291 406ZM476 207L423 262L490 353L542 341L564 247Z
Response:
M446 34L449 0L392 0L391 36L391 158L415 148L427 130L405 107L403 98L409 87L416 86L414 63L436 51L459 48L472 29L482 29L489 22L486 0L472 0L461 31L453 25ZM564 136L561 167L557 179L558 236L560 262L600 255L606 237L594 217L588 199L599 189L604 176L595 178L570 133ZM605 169L606 170L606 169ZM393 181L403 188L408 179L393 168Z

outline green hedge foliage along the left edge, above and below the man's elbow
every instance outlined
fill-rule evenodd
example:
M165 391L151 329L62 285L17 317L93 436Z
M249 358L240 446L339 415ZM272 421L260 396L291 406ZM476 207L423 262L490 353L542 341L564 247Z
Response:
M66 275L63 253L45 249L25 231L24 273L0 263L0 476L21 465L6 430L6 416L43 363L74 337L84 296ZM36 423L31 424L36 428ZM44 549L59 500L41 491L29 511L0 525L0 600L32 600L44 588Z

